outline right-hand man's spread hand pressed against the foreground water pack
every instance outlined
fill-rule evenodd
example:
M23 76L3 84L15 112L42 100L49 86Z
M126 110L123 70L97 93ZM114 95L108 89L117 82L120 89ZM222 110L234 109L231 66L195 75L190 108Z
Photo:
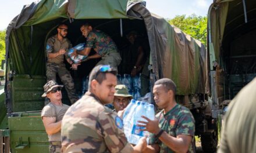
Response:
M146 116L141 116L141 118L144 118L145 120L147 120L147 122L145 121L138 121L138 124L137 126L141 126L141 127L144 127L145 129L141 129L141 130L144 130L144 131L148 131L150 133L154 133L154 134L158 134L159 131L160 131L160 128L158 126L158 119L155 118L154 120L150 120L149 118L147 118Z

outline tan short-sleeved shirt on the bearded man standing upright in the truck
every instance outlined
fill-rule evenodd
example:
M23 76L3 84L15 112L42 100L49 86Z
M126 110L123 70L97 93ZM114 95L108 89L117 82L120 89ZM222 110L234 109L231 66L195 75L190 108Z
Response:
M59 41L59 39L57 38L57 35L54 35L52 37L50 37L49 39L47 39L47 45L46 45L46 53L47 53L47 57L49 53L56 53L59 52L59 50L61 49L65 49L66 50L66 54L65 57L66 59L69 58L67 56L67 51L72 48L72 44L70 43L69 39L64 38L62 41ZM61 54L53 59L48 59L49 63L55 63L55 64L61 64L64 61L64 55Z

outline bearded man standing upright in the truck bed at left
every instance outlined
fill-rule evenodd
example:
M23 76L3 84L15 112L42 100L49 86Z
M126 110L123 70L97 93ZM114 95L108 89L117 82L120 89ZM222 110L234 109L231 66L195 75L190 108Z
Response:
M72 44L66 38L67 25L61 24L58 26L57 30L58 34L52 36L47 40L47 81L56 81L56 74L58 73L59 78L61 78L61 81L63 82L67 91L67 96L69 96L69 100L73 104L78 100L78 96L76 95L76 90L74 89L73 79L70 75L70 72L67 71L63 61L66 57L67 63L72 65L71 68L73 68L74 70L76 70L77 65L80 64L74 64L73 61L70 60L70 58L67 56L66 50L72 47Z

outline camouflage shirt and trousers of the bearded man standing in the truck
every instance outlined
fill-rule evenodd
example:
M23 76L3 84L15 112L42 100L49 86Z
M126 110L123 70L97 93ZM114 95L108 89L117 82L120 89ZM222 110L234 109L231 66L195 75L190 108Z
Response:
M57 35L52 36L47 40L46 53L47 57L49 53L59 52L60 49L69 49L72 45L67 38L64 38L62 42L60 42L57 38ZM65 54L66 59L67 54ZM53 80L56 81L56 74L58 73L59 78L63 82L65 89L67 91L67 96L69 96L70 102L73 104L78 100L76 95L76 90L74 89L74 81L70 75L70 72L67 71L64 61L64 55L61 54L54 59L48 59L47 61L47 70L46 76L47 81Z

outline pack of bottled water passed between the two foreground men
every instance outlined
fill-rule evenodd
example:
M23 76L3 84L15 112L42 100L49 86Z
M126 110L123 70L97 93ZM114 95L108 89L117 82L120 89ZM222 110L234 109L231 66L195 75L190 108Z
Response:
M138 121L147 122L141 116L146 116L153 120L155 118L154 105L143 101L131 100L123 114L125 136L131 144L137 144L141 137L147 137L147 142L149 141L150 133L143 131L143 127L137 126Z

